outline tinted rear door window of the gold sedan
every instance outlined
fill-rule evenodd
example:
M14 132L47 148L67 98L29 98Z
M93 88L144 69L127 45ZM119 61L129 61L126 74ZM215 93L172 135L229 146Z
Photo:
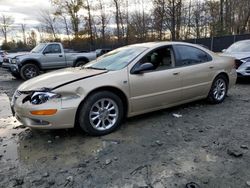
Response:
M208 53L192 46L175 45L174 49L177 55L177 67L212 61L212 57Z

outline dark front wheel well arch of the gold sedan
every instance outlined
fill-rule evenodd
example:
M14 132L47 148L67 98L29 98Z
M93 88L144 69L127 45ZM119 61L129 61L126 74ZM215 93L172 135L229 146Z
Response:
M82 102L80 103L80 105L78 106L77 111L76 111L76 115L75 115L75 125L77 125L77 123L78 123L78 117L79 117L79 113L80 113L81 106L84 104L84 102L86 101L86 99L87 99L90 95L92 95L92 94L95 93L95 92L99 92L99 91L110 91L110 92L116 94L118 97L120 97L120 99L122 100L123 108L124 108L124 117L127 116L127 113L128 113L128 100L127 100L126 95L125 95L120 89L117 89L117 88L115 88L115 87L101 87L101 88L97 88L97 89L91 91L91 92L84 98L84 100L82 100Z

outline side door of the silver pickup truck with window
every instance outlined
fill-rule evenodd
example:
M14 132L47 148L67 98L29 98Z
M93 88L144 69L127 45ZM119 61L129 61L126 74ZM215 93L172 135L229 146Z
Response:
M42 66L45 69L66 67L64 52L59 44L49 44L41 57Z

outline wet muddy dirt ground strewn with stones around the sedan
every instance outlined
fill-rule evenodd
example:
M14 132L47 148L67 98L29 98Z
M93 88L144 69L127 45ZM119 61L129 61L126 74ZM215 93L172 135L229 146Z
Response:
M222 104L137 116L102 137L21 126L9 109L20 83L0 68L0 187L250 187L250 81Z

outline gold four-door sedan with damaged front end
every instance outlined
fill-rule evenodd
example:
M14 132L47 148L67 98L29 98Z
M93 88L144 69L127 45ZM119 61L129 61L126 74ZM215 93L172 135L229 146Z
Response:
M111 51L81 68L24 82L11 106L25 126L79 125L104 135L131 117L207 98L221 103L236 82L235 61L193 44L153 42Z

